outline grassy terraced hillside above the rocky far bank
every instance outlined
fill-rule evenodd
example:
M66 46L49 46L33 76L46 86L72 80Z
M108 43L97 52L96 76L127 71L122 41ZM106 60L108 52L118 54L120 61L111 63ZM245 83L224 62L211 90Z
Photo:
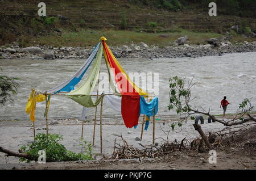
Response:
M183 35L182 32L188 32L191 35L193 32L208 33L208 35L217 33L216 35L220 36L224 35L226 31L230 31L232 26L240 24L242 20L246 22L246 27L249 27L251 31L256 30L253 13L247 14L250 17L241 17L239 13L230 15L229 12L209 16L208 1L203 0L44 1L47 11L46 19L40 18L37 14L39 2L32 0L0 1L0 44L12 41L22 41L21 44L31 44L32 41L49 44L51 37L56 36L65 44L69 40L67 37L90 36L88 32L98 37L102 32L108 31L119 35L119 30L154 33L150 36L155 36L155 33L159 33L159 35L168 33L169 36L175 38ZM179 3L177 4L177 2ZM221 7L218 11L226 12L223 6ZM243 11L239 12L241 14ZM69 20L61 21L56 18L57 15L65 16ZM85 31L87 33L84 33ZM134 33L132 33L133 36L139 36ZM126 33L121 34L126 36ZM207 34L204 36L208 37ZM235 40L242 39L236 33L234 36ZM42 39L42 37L44 38ZM75 41L75 39L71 40ZM198 41L201 43L201 40ZM197 43L197 40L194 43Z

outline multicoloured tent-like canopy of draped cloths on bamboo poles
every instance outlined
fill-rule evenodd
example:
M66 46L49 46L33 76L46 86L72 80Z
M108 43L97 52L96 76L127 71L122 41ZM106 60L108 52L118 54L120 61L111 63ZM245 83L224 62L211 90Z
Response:
M56 86L53 89L47 91L47 93L56 94L57 92L68 92L66 96L75 100L77 103L81 104L84 107L96 107L102 100L104 94L101 94L99 98L94 102L92 99L93 89L96 86L98 81L98 77L100 74L100 66L101 66L101 57L102 53L104 53L105 62L107 65L107 70L109 73L109 83L111 85L111 89L114 92L120 92L122 97L114 96L114 95L105 95L106 103L113 110L121 112L123 121L127 128L136 127L138 125L139 115L146 115L146 127L147 129L149 124L149 117L153 115L153 110L155 110L155 115L158 112L158 98L155 97L151 99L150 102L146 102L144 96L148 96L148 93L139 88L127 75L125 70L123 70L122 66L119 64L117 59L114 57L113 53L109 49L106 44L106 38L101 37L101 42L98 43L96 48L93 50L92 54L85 62L84 65L80 68L79 71L73 77L69 78L67 81L62 83L59 86ZM93 63L93 67L90 70L88 78L86 78L85 82L82 83L80 87L74 90L75 85L80 82L81 78L85 74L86 70L88 70L90 64ZM111 69L110 69L111 68ZM112 76L110 73L114 74L114 81L117 85L117 89L114 86L114 81L112 80ZM46 112L49 108L49 100L50 96L47 99L47 108ZM26 112L30 113L31 121L35 120L35 107L36 102L42 102L46 100L45 95L38 94L35 90L32 90L30 98L28 99L28 103L26 106ZM83 108L82 119L85 117L86 109Z

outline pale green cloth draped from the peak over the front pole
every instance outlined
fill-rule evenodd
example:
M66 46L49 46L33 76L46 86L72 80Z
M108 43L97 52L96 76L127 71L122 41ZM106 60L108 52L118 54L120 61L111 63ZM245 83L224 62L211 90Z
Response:
M79 88L66 94L68 98L75 100L75 102L81 104L84 107L96 107L101 102L101 99L104 96L101 95L96 100L96 102L93 102L92 96L90 96L98 81L98 76L100 74L102 50L103 46L101 44L100 48L98 49L98 53L95 58L92 70L90 70L89 77L86 79L86 81L82 83Z

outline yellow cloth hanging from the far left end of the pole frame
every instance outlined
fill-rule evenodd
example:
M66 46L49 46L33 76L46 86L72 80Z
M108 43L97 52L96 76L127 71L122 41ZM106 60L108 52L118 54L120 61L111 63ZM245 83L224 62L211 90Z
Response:
M36 94L36 90L32 89L30 94L30 98L27 100L26 112L27 114L30 113L30 120L35 121L35 108L36 102L42 102L46 100L46 96L42 94ZM49 104L49 103L48 103Z

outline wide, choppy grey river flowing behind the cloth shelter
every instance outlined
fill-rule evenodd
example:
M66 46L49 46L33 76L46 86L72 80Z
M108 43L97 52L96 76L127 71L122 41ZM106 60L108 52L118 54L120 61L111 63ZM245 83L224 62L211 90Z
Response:
M20 78L18 94L13 96L13 105L1 107L0 119L28 120L25 112L31 89L48 90L71 77L85 60L0 60L1 74ZM104 61L102 61L104 62ZM256 52L233 53L224 56L200 58L158 58L154 60L119 58L123 69L138 73L159 73L159 113L158 117L174 115L168 111L168 80L174 76L182 76L196 81L192 93L196 96L193 105L197 108L210 108L214 114L222 113L220 101L227 96L232 105L227 113L237 111L238 104L244 98L253 98L251 103L256 106ZM101 72L106 72L102 64ZM89 70L87 71L87 73ZM86 76L85 76L86 77ZM84 78L85 78L84 77ZM81 82L84 81L84 78ZM81 82L79 85L81 85ZM78 85L78 86L79 86ZM36 119L42 120L45 102L36 104ZM80 117L80 104L65 96L52 96L49 118L65 119ZM120 117L120 115L104 105L104 117ZM94 108L89 108L88 118L94 115Z

